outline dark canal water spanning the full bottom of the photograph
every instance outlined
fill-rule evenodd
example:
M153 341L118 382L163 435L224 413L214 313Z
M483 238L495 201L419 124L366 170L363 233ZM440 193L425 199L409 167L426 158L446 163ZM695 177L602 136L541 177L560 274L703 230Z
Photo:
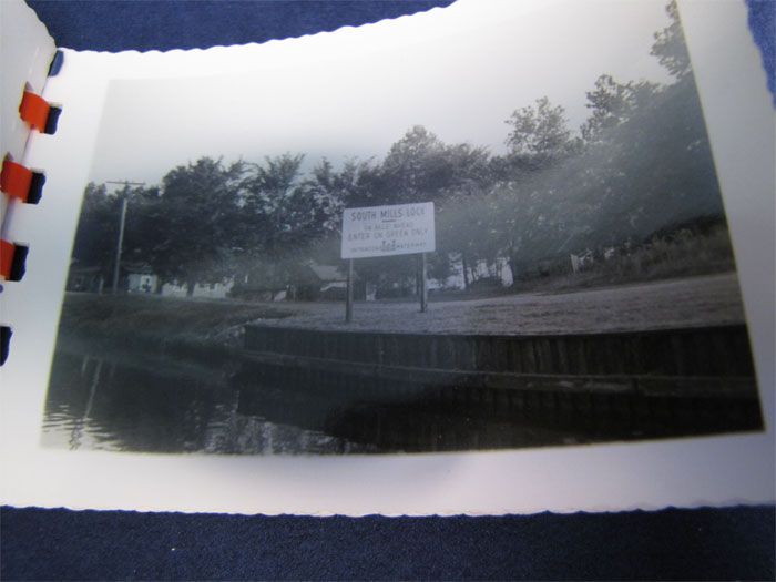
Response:
M422 452L753 430L754 398L493 389L459 378L364 377L305 366L202 366L58 351L43 443L212 453Z

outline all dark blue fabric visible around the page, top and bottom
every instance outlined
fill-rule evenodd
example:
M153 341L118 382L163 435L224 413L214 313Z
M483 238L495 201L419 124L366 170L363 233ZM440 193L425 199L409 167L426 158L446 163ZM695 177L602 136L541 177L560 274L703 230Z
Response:
M448 3L30 2L58 45L109 51L262 42ZM773 92L776 2L747 4ZM2 508L0 578L773 580L774 514L321 519Z

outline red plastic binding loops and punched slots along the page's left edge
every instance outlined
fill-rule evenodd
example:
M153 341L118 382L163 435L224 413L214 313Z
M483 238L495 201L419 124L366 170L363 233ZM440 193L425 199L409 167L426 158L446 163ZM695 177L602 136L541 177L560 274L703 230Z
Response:
M57 51L49 65L48 76L59 73L62 65L63 53ZM20 86L20 101L18 106L19 120L3 120L6 123L18 124L23 135L22 143L25 144L23 151L16 152L6 150L2 152L2 169L0 170L0 191L2 191L2 205L0 207L0 293L7 285L18 285L24 277L27 270L27 256L30 251L29 244L16 241L9 235L17 205L38 204L43 195L45 184L44 169L30 169L23 162L29 156L27 151L28 139L32 132L52 135L57 132L61 108L54 106L45 101L40 94L31 89L29 82ZM4 149L4 147L3 147ZM14 155L16 154L16 155ZM0 314L0 366L2 366L10 353L11 336L13 329L6 321L6 317L11 314Z

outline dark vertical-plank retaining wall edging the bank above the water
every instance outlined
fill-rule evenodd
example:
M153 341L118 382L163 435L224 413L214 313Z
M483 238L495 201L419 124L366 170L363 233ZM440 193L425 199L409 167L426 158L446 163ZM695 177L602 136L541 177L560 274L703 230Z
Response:
M456 336L246 326L245 347L288 356L471 371L753 378L744 325L554 336Z

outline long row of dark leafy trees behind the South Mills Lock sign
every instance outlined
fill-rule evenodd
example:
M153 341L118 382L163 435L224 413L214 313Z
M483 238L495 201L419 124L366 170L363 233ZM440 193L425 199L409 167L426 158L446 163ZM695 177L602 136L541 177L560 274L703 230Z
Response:
M547 96L506 120L508 152L447 144L410 127L381 160L326 159L304 171L303 153L261 162L202 157L161 184L86 187L73 257L113 266L119 207L129 201L123 262L162 282L235 278L282 288L304 261L336 264L345 207L435 202L431 276L480 263L509 265L518 280L570 253L639 245L693 222L724 222L708 139L674 2L652 55L672 82L621 82L602 74L586 92L589 116L569 126ZM371 280L411 280L411 262L360 262Z

